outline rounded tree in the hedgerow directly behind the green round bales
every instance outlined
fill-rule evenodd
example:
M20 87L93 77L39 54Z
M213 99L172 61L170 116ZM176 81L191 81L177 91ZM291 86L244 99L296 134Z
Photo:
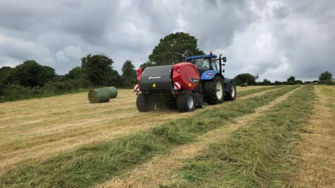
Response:
M103 55L87 55L82 58L82 76L94 86L107 86L112 75L111 58Z

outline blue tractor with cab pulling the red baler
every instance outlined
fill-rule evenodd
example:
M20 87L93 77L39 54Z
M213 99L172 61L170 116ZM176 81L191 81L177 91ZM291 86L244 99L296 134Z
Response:
M225 78L222 66L227 61L225 57L216 56L211 52L200 56L186 56L185 61L193 63L200 74L200 87L203 100L208 104L217 104L223 100L236 99L236 86L233 79Z

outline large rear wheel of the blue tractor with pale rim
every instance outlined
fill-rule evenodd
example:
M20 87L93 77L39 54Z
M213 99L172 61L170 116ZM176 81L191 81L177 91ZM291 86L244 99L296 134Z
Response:
M202 93L204 93L204 99L208 104L223 102L225 91L222 78L217 76L211 81L204 82L202 91Z

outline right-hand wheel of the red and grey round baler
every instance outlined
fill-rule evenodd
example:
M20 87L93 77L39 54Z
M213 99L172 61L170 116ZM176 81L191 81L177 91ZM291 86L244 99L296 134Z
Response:
M194 111L195 99L191 91L181 91L177 95L177 109L180 112Z

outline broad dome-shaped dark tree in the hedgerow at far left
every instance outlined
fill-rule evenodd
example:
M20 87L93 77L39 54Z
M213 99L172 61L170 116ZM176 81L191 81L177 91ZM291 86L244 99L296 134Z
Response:
M21 86L44 86L45 83L54 79L56 73L49 66L42 66L34 60L24 61L17 65L10 73L10 83Z

